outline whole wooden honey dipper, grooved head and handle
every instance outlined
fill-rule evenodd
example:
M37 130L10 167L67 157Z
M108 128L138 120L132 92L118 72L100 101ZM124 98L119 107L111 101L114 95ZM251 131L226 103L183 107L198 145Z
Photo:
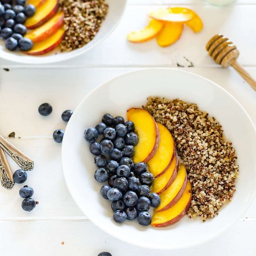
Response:
M216 34L207 43L206 50L217 64L222 65L222 67L234 67L236 72L256 90L256 81L236 61L239 51L227 37L222 34Z

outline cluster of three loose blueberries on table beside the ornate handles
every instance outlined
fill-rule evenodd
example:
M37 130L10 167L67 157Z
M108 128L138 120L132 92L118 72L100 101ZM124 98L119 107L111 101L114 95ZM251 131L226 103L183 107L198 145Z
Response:
M18 184L22 184L27 181L27 172L24 170L17 170L13 173L13 181ZM21 207L24 211L32 211L35 206L38 204L32 196L34 194L34 189L28 186L24 186L20 189L20 197L25 198L22 203Z

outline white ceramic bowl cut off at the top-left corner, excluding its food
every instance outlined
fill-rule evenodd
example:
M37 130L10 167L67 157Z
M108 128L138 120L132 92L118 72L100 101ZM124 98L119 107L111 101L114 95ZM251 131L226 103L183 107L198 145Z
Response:
M106 20L102 22L102 26L94 39L80 49L63 53L56 49L48 54L29 56L19 51L8 51L4 45L4 40L0 40L0 58L3 58L7 61L26 64L48 64L59 61L66 61L87 52L89 49L93 48L98 43L106 39L114 31L115 27L121 20L122 14L124 13L127 0L106 0L106 2L109 6Z

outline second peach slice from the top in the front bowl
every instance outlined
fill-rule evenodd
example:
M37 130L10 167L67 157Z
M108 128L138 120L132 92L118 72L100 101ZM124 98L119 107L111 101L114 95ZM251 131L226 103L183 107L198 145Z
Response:
M156 125L160 134L160 142L154 157L148 161L150 172L155 178L170 167L175 156L175 143L171 133L161 123L156 123Z

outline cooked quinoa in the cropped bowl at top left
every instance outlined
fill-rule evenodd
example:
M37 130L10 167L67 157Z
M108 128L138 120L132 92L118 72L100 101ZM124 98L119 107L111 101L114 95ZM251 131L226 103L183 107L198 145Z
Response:
M72 51L90 42L108 13L105 0L60 0L66 34L61 51Z

